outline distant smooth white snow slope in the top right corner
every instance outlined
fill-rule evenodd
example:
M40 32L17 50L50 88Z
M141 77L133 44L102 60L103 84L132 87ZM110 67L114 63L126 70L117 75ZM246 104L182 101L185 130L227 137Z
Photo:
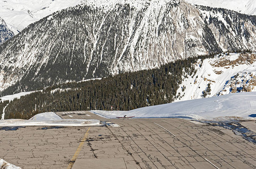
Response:
M242 14L256 15L255 0L185 0L193 5L227 8Z

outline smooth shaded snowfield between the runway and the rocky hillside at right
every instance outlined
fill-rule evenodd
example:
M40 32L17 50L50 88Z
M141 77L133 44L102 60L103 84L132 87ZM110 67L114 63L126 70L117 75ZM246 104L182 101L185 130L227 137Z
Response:
M180 117L220 121L228 119L256 120L256 118L249 117L251 114L256 115L256 92L242 92L205 99L180 101L130 111L92 110L91 112L107 118L135 115L135 118Z

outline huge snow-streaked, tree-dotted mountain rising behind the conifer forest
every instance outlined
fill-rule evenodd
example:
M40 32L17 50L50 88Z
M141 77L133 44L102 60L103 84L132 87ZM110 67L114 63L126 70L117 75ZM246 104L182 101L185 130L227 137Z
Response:
M255 20L182 0L86 1L0 46L0 90L36 90L222 50L256 50Z

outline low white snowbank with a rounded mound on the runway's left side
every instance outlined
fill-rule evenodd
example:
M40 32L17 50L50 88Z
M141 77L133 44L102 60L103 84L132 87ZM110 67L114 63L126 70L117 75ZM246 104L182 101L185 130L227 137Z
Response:
M99 126L97 119L62 119L53 112L34 115L29 120L6 119L0 120L0 126Z

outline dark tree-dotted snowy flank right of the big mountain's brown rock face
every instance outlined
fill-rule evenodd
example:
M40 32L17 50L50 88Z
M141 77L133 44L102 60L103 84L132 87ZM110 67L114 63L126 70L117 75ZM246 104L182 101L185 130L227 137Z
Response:
M255 51L255 16L239 14L223 8L197 6L203 19L214 33L222 50L251 49Z

